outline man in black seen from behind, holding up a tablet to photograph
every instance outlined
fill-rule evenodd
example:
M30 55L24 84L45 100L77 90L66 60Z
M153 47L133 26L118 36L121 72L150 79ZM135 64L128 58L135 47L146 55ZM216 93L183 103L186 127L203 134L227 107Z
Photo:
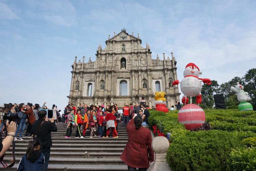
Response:
M47 171L51 146L52 137L51 132L57 132L57 127L54 123L54 117L50 121L46 117L47 112L45 110L38 111L38 120L33 124L33 135L34 138L38 138L41 142L41 152L44 155L44 163L42 165L42 171Z

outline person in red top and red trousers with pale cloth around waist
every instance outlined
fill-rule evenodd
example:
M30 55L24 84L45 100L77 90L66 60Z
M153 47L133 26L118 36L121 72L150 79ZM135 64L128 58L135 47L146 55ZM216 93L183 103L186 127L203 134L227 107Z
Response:
M107 109L106 116L105 116L105 118L103 118L107 121L106 138L108 138L110 128L112 130L113 138L118 137L117 132L116 132L116 128L115 128L116 117L111 112L112 112L111 109Z

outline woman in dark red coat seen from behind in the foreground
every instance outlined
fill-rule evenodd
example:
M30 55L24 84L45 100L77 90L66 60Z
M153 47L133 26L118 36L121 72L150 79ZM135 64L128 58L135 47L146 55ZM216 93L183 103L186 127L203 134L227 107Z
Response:
M149 129L141 126L141 116L133 117L126 126L128 142L120 159L128 166L128 171L146 171L149 162L154 161L154 151L151 147L152 137Z

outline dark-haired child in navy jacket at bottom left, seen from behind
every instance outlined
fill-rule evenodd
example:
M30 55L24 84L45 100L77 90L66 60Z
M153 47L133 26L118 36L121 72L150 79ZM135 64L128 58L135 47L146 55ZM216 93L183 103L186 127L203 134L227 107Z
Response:
M17 171L42 170L44 155L40 152L40 141L34 139L28 142L27 153L21 158Z

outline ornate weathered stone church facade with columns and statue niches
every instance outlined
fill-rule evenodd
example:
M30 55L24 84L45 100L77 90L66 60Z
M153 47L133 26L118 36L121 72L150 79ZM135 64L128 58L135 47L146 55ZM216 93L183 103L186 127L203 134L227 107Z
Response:
M77 57L73 70L69 103L94 105L112 105L123 107L124 103L138 103L142 96L147 104L154 105L154 92L166 92L167 106L175 105L179 100L179 89L170 82L177 80L176 60L171 53L171 60L163 53L164 60L151 58L150 46L141 46L139 34L129 35L125 30L105 41L104 49L99 45L96 61L91 58L84 63Z

